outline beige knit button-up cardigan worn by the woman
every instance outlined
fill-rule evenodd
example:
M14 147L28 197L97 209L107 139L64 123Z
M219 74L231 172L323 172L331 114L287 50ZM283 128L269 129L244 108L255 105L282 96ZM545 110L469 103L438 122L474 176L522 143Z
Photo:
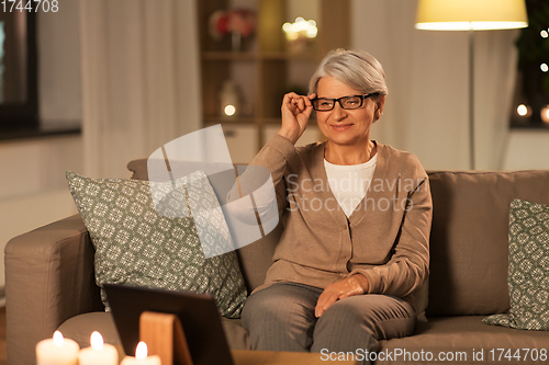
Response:
M324 147L295 148L274 135L250 163L271 172L284 227L258 289L277 282L324 288L360 273L368 293L401 297L423 310L414 293L429 266L433 204L425 170L413 153L377 144L370 189L347 218L329 189Z

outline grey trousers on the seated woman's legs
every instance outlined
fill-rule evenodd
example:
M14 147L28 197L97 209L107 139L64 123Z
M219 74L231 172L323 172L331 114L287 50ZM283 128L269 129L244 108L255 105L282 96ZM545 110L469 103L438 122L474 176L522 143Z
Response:
M242 312L251 350L371 352L379 350L379 340L411 335L415 330L416 315L410 304L378 294L338 300L316 318L314 308L322 292L277 283L251 294Z

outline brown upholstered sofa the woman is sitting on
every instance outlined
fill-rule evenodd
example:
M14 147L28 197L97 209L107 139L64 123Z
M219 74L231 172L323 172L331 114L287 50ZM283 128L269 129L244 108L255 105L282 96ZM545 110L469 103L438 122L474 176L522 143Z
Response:
M147 179L145 160L130 162L128 169L134 179ZM419 322L412 337L382 341L382 352L390 358L378 363L416 364L423 358L433 364L440 353L448 360L453 356L450 363L482 363L481 351L488 362L492 356L498 360L498 349L511 349L512 354L519 350L520 356L525 349L549 350L549 332L482 323L485 316L509 308L509 203L523 198L549 204L549 171L430 171L429 181L434 219L428 321ZM262 283L279 235L277 228L238 250L248 289ZM119 342L110 315L101 312L93 247L79 215L12 239L5 247L5 277L9 365L34 364L34 345L59 327L81 345L88 345L92 330L107 342ZM239 320L223 323L229 345L247 349Z

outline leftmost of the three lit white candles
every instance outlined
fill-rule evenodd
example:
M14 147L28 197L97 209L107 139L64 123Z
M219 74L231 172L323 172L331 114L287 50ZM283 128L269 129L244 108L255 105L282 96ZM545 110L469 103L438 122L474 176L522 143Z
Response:
M55 331L53 339L36 344L36 365L76 365L80 346Z

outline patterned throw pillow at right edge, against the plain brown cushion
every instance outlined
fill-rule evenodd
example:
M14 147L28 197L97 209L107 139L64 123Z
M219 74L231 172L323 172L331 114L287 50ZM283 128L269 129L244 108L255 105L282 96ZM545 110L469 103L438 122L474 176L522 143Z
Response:
M484 323L549 330L549 206L515 199L509 213L508 315Z

